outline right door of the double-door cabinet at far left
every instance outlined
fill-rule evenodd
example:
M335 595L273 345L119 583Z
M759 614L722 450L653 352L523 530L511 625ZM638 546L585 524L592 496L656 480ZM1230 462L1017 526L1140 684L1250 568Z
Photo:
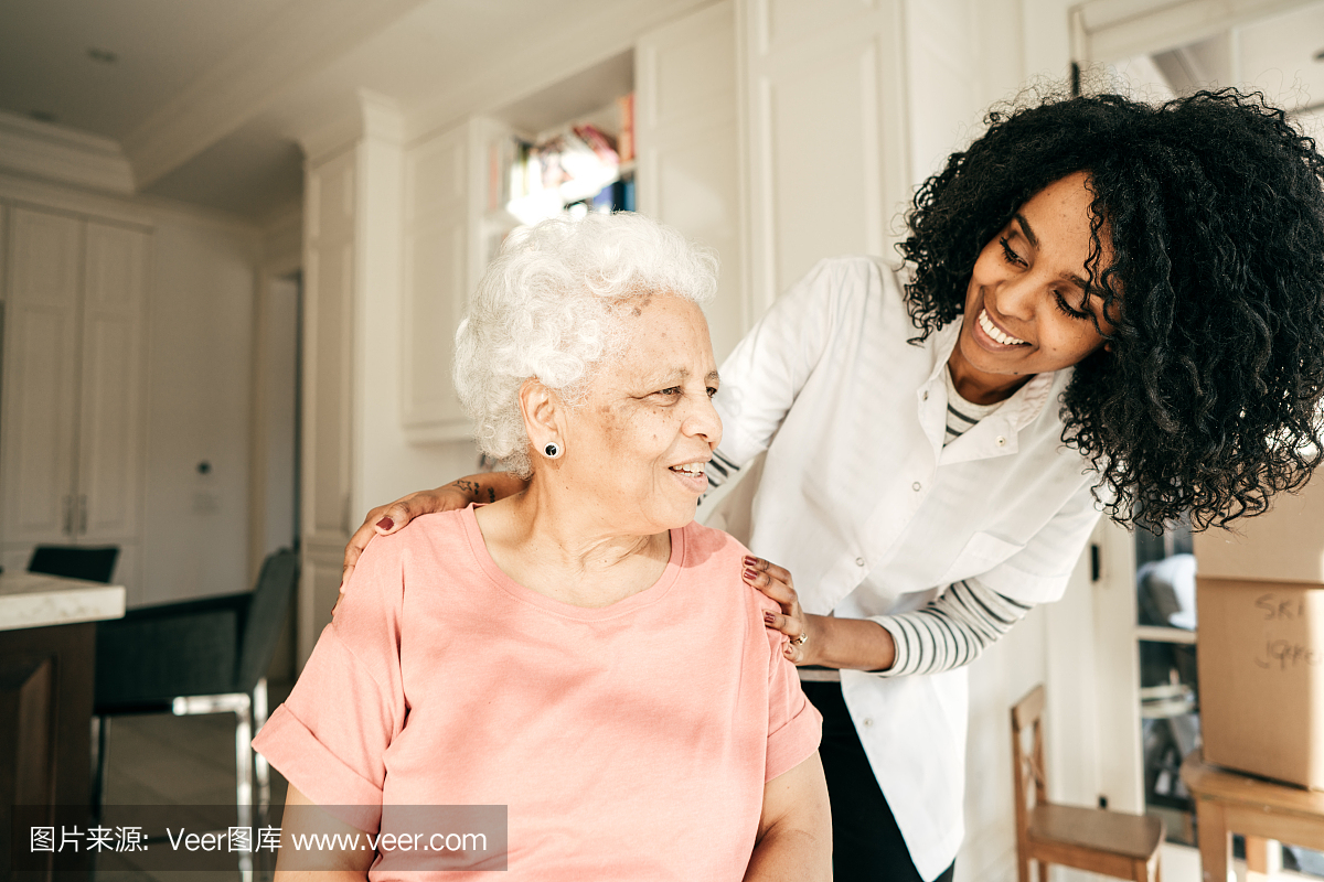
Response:
M146 233L87 223L78 418L79 542L140 533Z

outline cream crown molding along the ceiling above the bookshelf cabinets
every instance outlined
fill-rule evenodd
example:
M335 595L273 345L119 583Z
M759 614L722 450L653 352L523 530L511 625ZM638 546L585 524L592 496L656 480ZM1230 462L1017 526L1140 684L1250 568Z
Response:
M714 0L613 0L591 16L568 16L493 53L493 63L405 108L405 140L436 134L474 114L490 112L585 67L630 49L639 34Z

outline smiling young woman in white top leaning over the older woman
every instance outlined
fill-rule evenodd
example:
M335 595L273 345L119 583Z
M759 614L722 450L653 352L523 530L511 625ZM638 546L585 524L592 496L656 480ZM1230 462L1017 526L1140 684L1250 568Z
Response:
M1320 461L1324 157L1233 90L1047 98L915 196L904 267L824 261L722 365L720 484L767 461L745 581L781 604L835 878L949 879L964 665L1061 596L1100 513L1200 529ZM473 493L373 509L346 551Z

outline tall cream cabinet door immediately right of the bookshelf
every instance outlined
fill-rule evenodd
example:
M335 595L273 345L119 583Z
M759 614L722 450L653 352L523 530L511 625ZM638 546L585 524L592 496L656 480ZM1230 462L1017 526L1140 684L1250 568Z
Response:
M645 34L634 53L638 210L716 249L704 308L718 364L752 323L745 303L732 0Z

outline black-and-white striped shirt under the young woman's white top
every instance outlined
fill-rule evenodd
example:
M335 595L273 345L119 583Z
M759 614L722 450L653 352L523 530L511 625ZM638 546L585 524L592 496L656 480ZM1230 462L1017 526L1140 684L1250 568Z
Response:
M981 419L997 410L1002 402L976 405L965 401L952 382L952 372L943 372L947 380L947 436L944 446L964 435ZM708 463L708 484L720 487L740 467L714 451ZM896 644L896 656L887 670L875 672L884 677L929 674L968 665L992 643L1025 618L1031 604L1013 600L980 583L977 578L963 579L948 586L927 606L914 612L903 612L875 619L887 628ZM801 669L802 680L839 680L837 670Z

